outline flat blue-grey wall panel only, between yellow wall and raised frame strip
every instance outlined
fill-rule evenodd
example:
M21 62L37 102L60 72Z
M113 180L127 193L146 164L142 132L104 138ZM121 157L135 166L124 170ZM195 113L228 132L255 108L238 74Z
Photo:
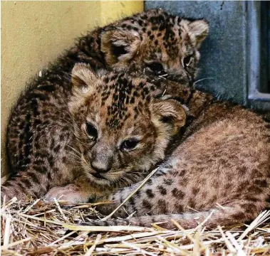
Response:
M147 1L146 9L209 21L202 44L199 87L246 105L246 5L244 1Z

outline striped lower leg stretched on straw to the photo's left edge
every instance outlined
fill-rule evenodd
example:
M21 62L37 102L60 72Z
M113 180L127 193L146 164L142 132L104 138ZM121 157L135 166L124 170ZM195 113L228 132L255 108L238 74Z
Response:
M36 144L41 143L36 142ZM41 198L51 188L71 183L76 178L80 170L73 164L73 159L68 152L64 150L65 144L54 144L57 151L48 150L44 146L43 151L39 150L36 154L31 154L31 162L24 169L18 166L19 171L4 181L1 186L1 201L4 196L6 201L14 197L19 200L25 199L26 196Z

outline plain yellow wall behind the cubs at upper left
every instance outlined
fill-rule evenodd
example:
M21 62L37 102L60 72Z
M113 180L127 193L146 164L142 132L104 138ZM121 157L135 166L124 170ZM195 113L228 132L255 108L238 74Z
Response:
M1 1L1 173L11 106L74 38L143 9L142 1Z

